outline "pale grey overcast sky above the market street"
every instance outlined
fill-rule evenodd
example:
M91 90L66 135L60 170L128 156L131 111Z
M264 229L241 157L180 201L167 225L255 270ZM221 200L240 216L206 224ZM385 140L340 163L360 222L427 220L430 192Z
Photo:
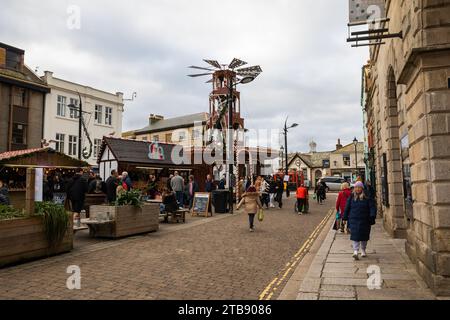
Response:
M69 29L70 5L81 10ZM334 148L338 138L363 138L361 68L366 48L346 43L345 0L2 0L0 42L26 51L25 62L55 77L123 92L123 129L142 128L148 115L207 112L207 78L188 78L202 59L234 57L263 73L241 86L250 129L278 129L289 116L300 127L292 151ZM73 21L73 20L69 20Z

